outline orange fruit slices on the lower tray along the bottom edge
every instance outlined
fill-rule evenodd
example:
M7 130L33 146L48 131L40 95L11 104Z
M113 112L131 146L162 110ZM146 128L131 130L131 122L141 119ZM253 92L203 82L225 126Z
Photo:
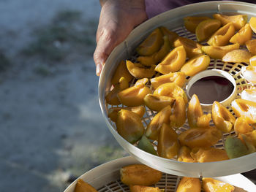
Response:
M129 186L131 192L165 192L165 188L156 187L162 178L162 172L152 169L143 164L131 164L120 169L121 183ZM229 183L215 180L210 177L199 178L182 177L179 181L176 192L194 191L200 192L233 192L235 187ZM75 185L75 192L97 192L89 183L78 180Z

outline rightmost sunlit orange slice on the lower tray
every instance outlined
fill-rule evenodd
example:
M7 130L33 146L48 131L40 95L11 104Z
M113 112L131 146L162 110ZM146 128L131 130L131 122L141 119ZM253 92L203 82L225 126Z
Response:
M235 187L220 180L204 177L203 190L206 192L233 192Z

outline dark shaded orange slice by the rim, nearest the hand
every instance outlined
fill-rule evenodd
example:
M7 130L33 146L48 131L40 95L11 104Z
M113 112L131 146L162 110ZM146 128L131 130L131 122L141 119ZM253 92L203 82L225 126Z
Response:
M139 55L149 56L156 53L162 46L164 40L162 39L162 32L159 28L149 34L149 36L136 48Z

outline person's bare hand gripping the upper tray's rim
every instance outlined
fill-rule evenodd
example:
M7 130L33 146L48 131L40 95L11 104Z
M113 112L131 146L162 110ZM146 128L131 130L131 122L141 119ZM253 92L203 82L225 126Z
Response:
M102 3L94 51L96 74L112 50L129 35L135 26L147 19L144 0L106 0Z

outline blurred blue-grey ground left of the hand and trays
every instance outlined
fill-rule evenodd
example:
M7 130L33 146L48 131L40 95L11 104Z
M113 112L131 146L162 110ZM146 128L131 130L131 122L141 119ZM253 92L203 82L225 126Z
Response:
M98 0L0 0L0 191L64 191L127 155L99 109Z

